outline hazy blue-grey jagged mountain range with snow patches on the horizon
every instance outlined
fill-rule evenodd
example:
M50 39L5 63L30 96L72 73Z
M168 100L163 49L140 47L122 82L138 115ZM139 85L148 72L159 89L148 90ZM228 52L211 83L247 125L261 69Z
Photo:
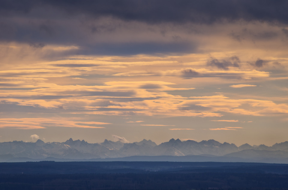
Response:
M220 143L213 139L196 142L170 139L157 145L151 140L123 143L109 141L88 143L84 140L68 139L65 142L1 142L0 162L16 158L45 159L105 159L123 158L129 156L225 156L225 158L239 159L286 159L288 161L288 141L276 143L271 147L266 145L251 146L244 144L237 147L227 142ZM218 160L218 159L217 159Z

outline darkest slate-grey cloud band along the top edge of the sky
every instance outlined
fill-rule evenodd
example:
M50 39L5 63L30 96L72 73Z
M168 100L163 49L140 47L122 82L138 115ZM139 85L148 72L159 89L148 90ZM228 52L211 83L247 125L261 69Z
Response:
M288 23L288 2L284 0L1 0L2 15L27 14L33 8L54 7L68 15L88 14L93 17L113 16L123 20L149 23L196 22L214 23L225 19ZM41 13L43 15L44 13ZM44 27L45 28L45 27Z

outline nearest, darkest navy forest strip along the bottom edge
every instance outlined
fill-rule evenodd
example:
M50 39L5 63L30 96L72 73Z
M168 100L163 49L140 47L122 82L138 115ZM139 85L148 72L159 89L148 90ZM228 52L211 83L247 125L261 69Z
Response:
M244 173L0 174L0 189L286 189L288 175Z

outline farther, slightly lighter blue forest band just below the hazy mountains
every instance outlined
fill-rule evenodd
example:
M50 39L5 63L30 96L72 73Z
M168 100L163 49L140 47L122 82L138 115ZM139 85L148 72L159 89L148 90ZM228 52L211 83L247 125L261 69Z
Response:
M2 162L0 174L224 172L288 174L288 164L247 162Z

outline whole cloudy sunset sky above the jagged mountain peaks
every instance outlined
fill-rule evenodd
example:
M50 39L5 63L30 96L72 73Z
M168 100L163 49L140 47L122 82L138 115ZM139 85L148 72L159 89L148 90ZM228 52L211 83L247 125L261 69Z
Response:
M0 3L0 142L288 140L288 1Z

